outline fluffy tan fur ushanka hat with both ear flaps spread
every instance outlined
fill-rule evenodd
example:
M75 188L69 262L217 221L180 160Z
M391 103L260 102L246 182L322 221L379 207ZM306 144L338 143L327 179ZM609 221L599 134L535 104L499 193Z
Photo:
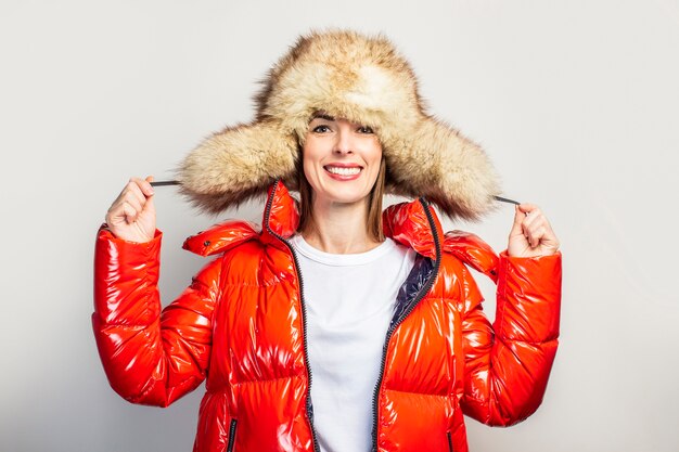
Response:
M450 217L476 219L499 193L484 151L425 112L410 64L382 36L311 33L271 68L249 124L207 138L181 164L182 193L218 212L277 179L297 189L300 146L315 113L370 126L386 160L386 192L425 196Z

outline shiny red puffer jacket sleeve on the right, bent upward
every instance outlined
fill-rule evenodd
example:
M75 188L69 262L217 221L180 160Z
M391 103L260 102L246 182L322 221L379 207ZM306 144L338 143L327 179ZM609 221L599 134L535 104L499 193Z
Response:
M462 315L465 357L464 414L507 426L533 414L542 401L556 353L561 305L561 254L537 258L500 255L492 325L464 271Z

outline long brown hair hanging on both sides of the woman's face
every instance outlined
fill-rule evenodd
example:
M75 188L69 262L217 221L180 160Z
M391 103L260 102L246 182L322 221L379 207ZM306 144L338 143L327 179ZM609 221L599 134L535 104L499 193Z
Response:
M299 150L302 155L302 148ZM386 180L386 162L382 156L380 162L380 172L375 184L368 197L368 235L376 241L384 242L384 231L382 230L382 199L384 197L384 186ZM297 162L297 186L299 188L299 225L297 232L304 233L316 225L313 224L313 189L304 173L303 159Z

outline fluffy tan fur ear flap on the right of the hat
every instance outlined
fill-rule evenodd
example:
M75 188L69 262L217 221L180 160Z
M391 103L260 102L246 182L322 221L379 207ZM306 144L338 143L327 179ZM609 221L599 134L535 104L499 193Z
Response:
M395 193L424 195L451 218L477 220L494 209L499 178L481 146L427 116L410 138L408 154L393 153L388 162Z

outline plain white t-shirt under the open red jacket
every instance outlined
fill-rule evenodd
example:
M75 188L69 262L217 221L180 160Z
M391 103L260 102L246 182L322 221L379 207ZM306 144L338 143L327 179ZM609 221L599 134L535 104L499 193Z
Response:
M291 238L304 279L313 427L322 452L372 445L373 397L396 295L414 250L387 238L376 248L334 255Z

